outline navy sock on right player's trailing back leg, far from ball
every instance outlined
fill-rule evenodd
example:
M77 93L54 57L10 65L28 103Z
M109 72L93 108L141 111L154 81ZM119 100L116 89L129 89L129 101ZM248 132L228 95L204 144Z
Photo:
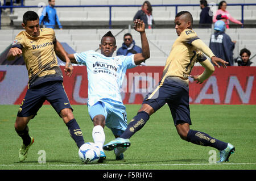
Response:
M192 129L188 132L187 141L197 145L211 146L218 150L224 150L228 146L228 143L217 140L207 133L194 131Z

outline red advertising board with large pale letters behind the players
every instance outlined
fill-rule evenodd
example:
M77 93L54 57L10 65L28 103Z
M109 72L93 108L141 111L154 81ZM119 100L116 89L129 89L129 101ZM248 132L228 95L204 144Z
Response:
M64 72L65 66L60 66ZM141 104L143 98L162 78L164 66L138 66L127 69L120 89L124 104ZM203 73L195 66L191 75ZM256 105L256 66L216 68L202 84L189 78L190 104ZM86 66L74 66L71 77L63 76L65 92L72 105L88 101ZM0 104L20 104L27 91L27 70L24 65L0 65ZM18 88L17 88L18 87ZM157 92L154 96L158 96ZM49 104L45 102L44 104Z

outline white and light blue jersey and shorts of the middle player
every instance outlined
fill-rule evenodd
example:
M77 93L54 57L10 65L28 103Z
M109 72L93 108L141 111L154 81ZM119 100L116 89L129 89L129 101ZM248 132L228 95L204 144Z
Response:
M126 107L120 89L127 69L134 68L131 56L105 57L89 50L74 54L78 64L86 65L88 73L88 111L90 118L104 115L106 126L115 136L127 128Z

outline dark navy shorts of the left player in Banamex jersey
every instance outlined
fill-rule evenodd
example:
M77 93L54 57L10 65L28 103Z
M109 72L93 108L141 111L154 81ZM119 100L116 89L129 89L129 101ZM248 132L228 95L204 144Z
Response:
M20 104L17 116L28 117L33 115L32 118L34 118L46 100L51 103L59 116L60 111L64 108L71 108L73 111L63 83L60 81L51 81L44 82L27 90L26 96Z

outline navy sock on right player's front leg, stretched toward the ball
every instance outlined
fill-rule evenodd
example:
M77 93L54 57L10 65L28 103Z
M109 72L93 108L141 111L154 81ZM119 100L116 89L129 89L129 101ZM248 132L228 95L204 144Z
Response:
M134 116L133 119L130 121L126 130L120 137L126 139L133 136L134 133L139 131L147 123L149 117L150 116L145 111L138 112L137 115Z

